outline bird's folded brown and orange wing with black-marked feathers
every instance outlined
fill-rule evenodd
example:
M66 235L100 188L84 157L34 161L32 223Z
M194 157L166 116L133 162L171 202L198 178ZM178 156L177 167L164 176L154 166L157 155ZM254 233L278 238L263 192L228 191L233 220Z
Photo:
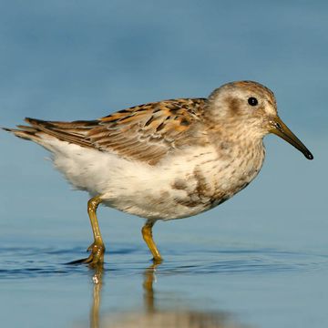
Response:
M22 138L34 136L36 142L37 136L45 133L81 147L154 165L174 149L204 141L204 132L197 127L205 105L204 98L180 98L123 109L91 121L26 118L31 127L18 126L21 129L12 132Z

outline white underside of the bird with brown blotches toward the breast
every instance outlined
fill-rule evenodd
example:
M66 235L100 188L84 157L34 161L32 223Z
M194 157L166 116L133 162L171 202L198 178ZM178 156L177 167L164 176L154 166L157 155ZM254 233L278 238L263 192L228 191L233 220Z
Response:
M261 163L241 166L238 159L231 165L231 159L218 159L212 147L186 150L158 166L54 139L47 149L54 154L56 169L75 188L100 195L109 207L153 220L210 210L241 190L261 168Z

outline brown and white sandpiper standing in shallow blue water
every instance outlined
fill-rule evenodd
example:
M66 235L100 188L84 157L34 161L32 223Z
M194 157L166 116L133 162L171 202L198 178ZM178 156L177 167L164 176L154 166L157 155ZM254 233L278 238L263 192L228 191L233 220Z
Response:
M145 219L142 236L159 263L154 224L211 210L243 190L262 167L266 135L313 159L278 116L272 90L250 80L223 84L209 97L150 102L93 120L25 120L5 130L50 151L55 168L90 195L94 241L88 257L72 263L104 262L99 204Z

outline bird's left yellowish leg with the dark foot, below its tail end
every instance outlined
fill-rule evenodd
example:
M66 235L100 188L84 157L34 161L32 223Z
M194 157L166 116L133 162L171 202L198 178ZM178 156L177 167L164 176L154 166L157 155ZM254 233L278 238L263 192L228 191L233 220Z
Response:
M88 200L87 213L90 218L91 228L94 235L94 242L87 248L87 251L91 251L87 259L72 261L70 264L88 263L92 266L104 262L105 245L101 238L99 225L97 222L97 207L102 202L99 196Z

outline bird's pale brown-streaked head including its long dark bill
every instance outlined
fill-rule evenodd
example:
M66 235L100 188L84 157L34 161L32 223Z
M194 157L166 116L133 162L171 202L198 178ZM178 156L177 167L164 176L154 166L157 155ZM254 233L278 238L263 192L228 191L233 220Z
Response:
M299 149L307 159L313 159L309 149L279 118L273 92L260 83L225 84L211 93L209 105L212 122L231 126L238 138L263 138L274 133Z

